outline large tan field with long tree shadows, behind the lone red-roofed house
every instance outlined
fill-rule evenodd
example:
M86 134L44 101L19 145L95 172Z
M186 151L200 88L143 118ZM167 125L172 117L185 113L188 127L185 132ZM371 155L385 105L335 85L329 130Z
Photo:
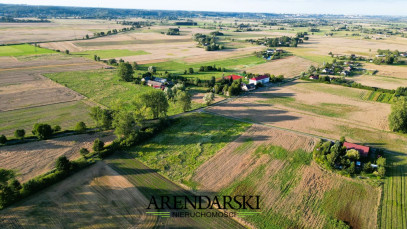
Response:
M297 81L296 81L297 82ZM388 132L390 104L366 101L367 91L298 81L264 88L209 112L293 131L407 150L406 138Z

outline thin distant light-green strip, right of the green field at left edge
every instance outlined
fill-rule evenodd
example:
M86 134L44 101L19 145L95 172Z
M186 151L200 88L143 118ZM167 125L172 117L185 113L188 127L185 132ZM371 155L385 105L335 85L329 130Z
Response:
M83 52L74 52L72 54L83 56L93 60L94 55L99 56L101 59L111 59L116 57L146 55L150 53L145 52L143 50L132 51L128 49L107 49L107 50L88 50Z

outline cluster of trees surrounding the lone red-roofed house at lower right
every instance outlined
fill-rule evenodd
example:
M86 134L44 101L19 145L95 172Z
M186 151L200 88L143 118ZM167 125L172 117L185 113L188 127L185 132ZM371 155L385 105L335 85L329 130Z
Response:
M344 137L335 143L321 140L314 149L314 160L325 168L339 170L342 175L352 176L364 172L380 178L385 176L386 159L384 157L380 156L376 161L373 161L375 159L372 157L361 158L357 150L347 150L343 146L344 142ZM361 162L361 166L356 165L357 161ZM376 163L377 168L372 167L372 162Z

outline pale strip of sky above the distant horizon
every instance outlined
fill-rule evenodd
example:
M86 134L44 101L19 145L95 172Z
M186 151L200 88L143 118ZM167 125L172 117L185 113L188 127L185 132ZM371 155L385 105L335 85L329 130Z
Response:
M0 0L108 8L407 16L407 0Z

